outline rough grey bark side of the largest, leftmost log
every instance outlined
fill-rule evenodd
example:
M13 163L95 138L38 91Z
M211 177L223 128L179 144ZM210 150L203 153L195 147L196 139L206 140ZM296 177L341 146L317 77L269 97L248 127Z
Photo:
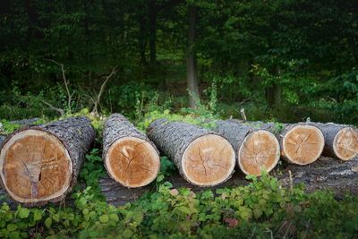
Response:
M80 173L81 165L83 163L83 158L90 149L92 142L94 141L95 131L92 128L90 120L87 117L71 117L65 120L60 120L48 124L25 126L6 137L2 146L4 147L6 143L18 133L29 130L46 132L49 135L55 136L55 138L58 139L64 145L64 148L68 151L69 157L72 161L72 178L70 181L70 186L62 195L48 200L51 202L61 201L62 199L64 199L65 195L68 192L72 191L72 187L77 182L77 177ZM4 148L2 149L2 154L3 151ZM38 170L42 170L42 168ZM2 183L4 185L3 178ZM48 201L41 201L41 199L38 199L36 201L25 203L28 203L28 206L38 206L46 204Z

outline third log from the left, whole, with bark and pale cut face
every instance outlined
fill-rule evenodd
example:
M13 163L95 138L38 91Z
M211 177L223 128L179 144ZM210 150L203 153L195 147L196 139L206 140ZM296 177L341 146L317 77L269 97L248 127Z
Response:
M148 136L191 184L221 184L234 173L234 149L216 132L159 119L149 125Z

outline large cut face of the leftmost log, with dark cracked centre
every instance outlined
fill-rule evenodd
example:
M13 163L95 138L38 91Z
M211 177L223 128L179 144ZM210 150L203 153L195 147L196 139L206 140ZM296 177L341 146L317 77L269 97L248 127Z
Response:
M25 130L4 144L0 175L15 201L51 201L60 199L69 188L72 161L64 144L54 135Z

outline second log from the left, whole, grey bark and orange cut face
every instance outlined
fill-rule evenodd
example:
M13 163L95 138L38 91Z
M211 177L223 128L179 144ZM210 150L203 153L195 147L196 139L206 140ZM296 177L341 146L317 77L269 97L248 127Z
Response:
M108 174L119 184L135 188L156 179L158 149L124 115L111 115L103 132L103 160Z

